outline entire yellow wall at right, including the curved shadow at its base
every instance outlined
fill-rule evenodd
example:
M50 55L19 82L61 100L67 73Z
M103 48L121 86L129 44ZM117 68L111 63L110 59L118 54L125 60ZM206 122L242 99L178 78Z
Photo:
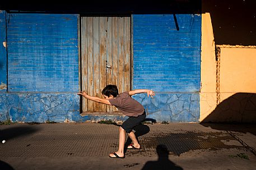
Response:
M202 14L201 60L200 122L256 122L256 48L221 47L218 106L210 13Z

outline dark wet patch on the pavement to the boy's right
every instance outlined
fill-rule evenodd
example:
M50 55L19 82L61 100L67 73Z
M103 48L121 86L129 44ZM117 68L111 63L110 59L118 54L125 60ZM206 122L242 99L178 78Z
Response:
M190 150L219 150L238 148L244 146L239 140L227 132L181 132L170 134L158 134L157 138L143 139L146 148L155 148L156 145L164 144L170 154L180 156Z

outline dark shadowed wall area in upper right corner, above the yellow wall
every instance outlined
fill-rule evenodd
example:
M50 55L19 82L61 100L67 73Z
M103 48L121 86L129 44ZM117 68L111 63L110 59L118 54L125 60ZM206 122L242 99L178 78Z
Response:
M256 45L255 0L202 0L202 13L211 14L215 43Z

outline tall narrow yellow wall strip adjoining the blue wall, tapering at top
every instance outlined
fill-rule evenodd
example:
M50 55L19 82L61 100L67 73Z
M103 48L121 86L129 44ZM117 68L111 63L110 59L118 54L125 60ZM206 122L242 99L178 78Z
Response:
M215 42L210 13L202 14L201 50L200 122L216 108Z

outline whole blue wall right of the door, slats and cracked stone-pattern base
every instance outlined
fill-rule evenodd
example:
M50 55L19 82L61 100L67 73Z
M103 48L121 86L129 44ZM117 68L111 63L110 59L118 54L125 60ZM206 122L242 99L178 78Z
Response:
M133 15L133 89L152 89L155 98L135 95L147 118L158 122L198 122L201 16Z

